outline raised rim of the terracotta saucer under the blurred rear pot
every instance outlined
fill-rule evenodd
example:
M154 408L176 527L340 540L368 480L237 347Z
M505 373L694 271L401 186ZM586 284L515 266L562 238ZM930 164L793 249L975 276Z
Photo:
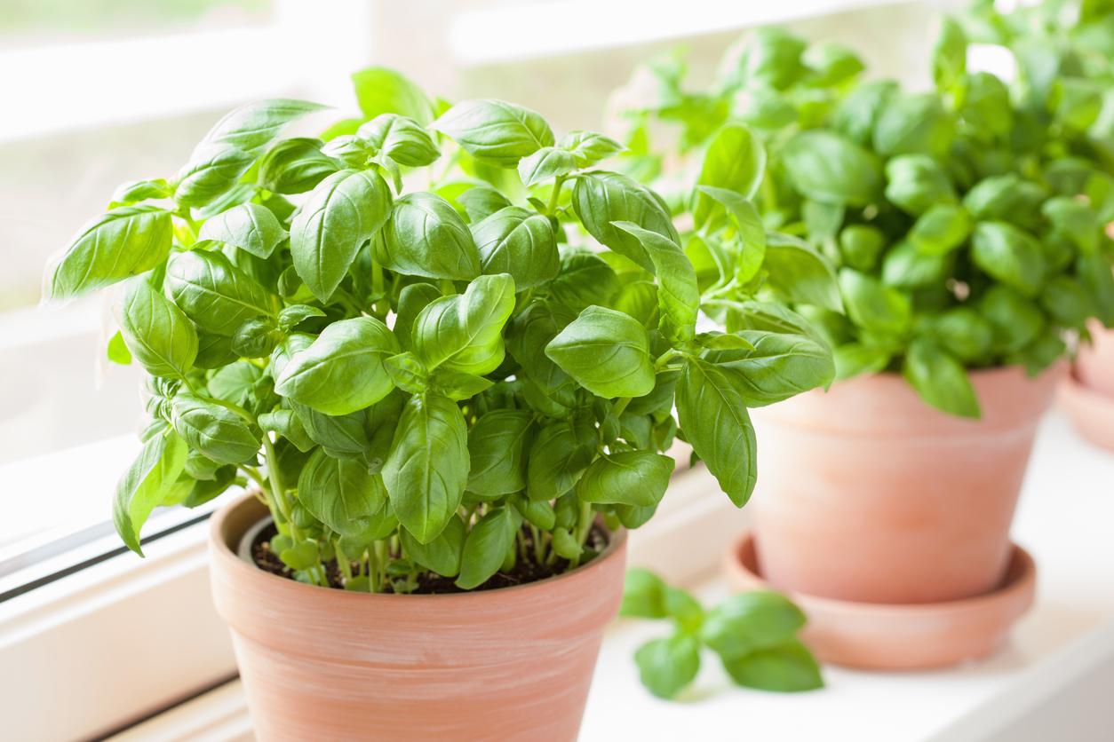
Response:
M841 601L837 597L824 597L823 595L810 595L800 591L782 591L776 585L771 584L761 573L752 571L743 562L743 550L754 548L754 532L749 528L742 531L731 541L723 555L723 568L729 577L737 575L747 582L756 580L760 586L754 590L776 590L784 592L790 597L799 596L800 600L807 601L810 605L822 607L828 614L853 613L857 616L872 615L880 619L902 619L924 615L926 612L955 614L977 611L990 605L1008 603L1016 595L1024 595L1032 592L1036 585L1036 561L1032 554L1018 544L1010 542L1010 547L1012 554L1009 564L1006 567L1006 575L1003 578L1003 583L997 587L981 595L959 597L951 601L935 601L931 603L868 603L864 601Z

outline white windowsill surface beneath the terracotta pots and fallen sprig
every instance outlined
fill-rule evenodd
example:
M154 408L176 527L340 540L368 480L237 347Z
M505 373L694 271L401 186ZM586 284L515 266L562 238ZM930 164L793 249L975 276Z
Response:
M1087 723L1107 724L1108 732L1114 729L1114 712L1102 701L1103 694L1092 694L1088 701L1073 689L1114 667L1111 482L1114 456L1084 443L1061 414L1051 415L1037 439L1014 527L1015 538L1039 565L1037 603L1015 627L1009 645L986 661L910 673L825 667L827 689L780 695L732 687L714 657L705 656L701 675L685 700L670 703L642 689L631 660L639 642L661 635L665 626L620 621L604 642L580 739L719 740L741 738L745 730L745 735L753 739L853 735L864 742L956 742L999 739L995 735L1024 724L1026 736L1032 734L1036 740L1051 739L1046 730L1059 723L1083 734L1087 733L1083 729ZM714 483L702 469L682 475L677 485L673 514L663 518L656 534L636 534L633 561L649 561L655 566L674 564L676 554L701 551L700 544L723 544L723 532L737 530L737 517L723 518L724 512L709 498L709 493L714 493ZM671 496L674 494L671 492ZM693 516L698 512L705 515ZM724 521L730 525L723 525ZM700 531L686 533L685 523ZM719 528L714 537L707 532L712 526ZM715 597L724 586L707 573L717 564L719 554L705 548L703 556L704 578L688 584ZM693 574L691 565L687 571ZM1072 715L1057 720L1067 696L1075 703ZM1085 715L1081 719L1079 713ZM156 716L118 739L180 738L198 732L206 739L250 739L238 681Z

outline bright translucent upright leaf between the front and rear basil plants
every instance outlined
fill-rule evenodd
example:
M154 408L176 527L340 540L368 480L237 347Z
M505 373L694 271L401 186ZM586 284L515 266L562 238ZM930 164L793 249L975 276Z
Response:
M709 141L696 185L723 188L751 199L762 184L765 162L765 148L750 128L742 123L727 123ZM693 220L697 227L707 220L713 204L707 194L697 191L693 208Z

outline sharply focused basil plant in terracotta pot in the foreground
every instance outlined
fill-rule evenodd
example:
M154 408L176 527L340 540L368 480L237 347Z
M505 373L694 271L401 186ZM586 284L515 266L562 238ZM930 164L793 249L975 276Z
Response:
M354 81L363 116L321 138L281 136L314 103L235 109L48 268L49 299L121 287L108 354L148 375L116 528L141 553L155 507L250 489L211 551L261 739L571 740L662 452L741 506L743 390L800 387L696 330L615 141Z

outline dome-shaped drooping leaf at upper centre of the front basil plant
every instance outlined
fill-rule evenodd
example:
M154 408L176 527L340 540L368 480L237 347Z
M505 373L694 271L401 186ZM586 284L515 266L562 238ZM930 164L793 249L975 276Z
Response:
M424 191L394 202L375 258L408 276L471 280L480 275L480 254L468 225L451 204Z

